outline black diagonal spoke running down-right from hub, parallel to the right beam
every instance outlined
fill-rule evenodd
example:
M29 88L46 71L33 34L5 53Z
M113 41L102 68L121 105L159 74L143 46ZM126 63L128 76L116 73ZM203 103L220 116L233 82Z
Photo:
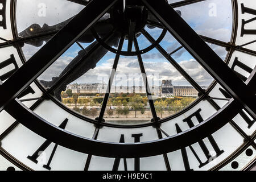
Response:
M152 36L150 34L148 34L148 32L146 30L142 30L141 31L142 34L147 38L148 41L150 41L151 43L155 42L154 38L152 38ZM201 88L200 85L197 84L197 82L195 80L193 80L193 78L191 76L188 75L187 72L184 71L183 68L181 68L181 66L171 57L169 56L169 54L158 44L156 46L156 49L158 49L158 51L164 56L166 57L166 59L174 66L174 68L177 69L177 71L180 72L180 74L182 76L184 76L184 78L201 94L205 95L205 91Z

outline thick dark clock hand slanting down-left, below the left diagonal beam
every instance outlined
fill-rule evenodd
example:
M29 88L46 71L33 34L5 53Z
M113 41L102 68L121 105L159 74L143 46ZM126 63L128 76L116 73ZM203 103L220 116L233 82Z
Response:
M117 47L120 35L121 34L119 34L118 32L115 32L114 35L112 35L108 40L106 40L106 43L109 44L109 46ZM88 47L85 48L85 52L88 53L90 51L90 49L92 49L96 44L97 44L97 42L93 42L92 44L90 44ZM85 52L80 51L78 53L78 55L71 61L71 63L69 63L67 65L67 67L65 67L63 72L61 72L58 77L53 77L51 81L40 80L41 84L44 85L44 87L46 87L46 88L51 88L53 85L55 85L56 81L59 80L59 78L63 77L65 75L65 73L67 73L70 69L72 69L72 67L78 61L80 61L81 59L84 59L84 56L86 55ZM106 55L107 52L108 52L107 49L100 46L100 47L96 48L96 50L93 53L91 53L88 57L86 57L84 60L82 60L80 66L74 72L72 72L71 75L69 75L61 83L61 85L57 87L57 89L55 89L54 93L55 93L55 97L57 98L57 100L61 101L61 92L65 91L68 84L77 80L77 78L84 75L90 69L95 68L98 61L100 61L102 59L102 57Z

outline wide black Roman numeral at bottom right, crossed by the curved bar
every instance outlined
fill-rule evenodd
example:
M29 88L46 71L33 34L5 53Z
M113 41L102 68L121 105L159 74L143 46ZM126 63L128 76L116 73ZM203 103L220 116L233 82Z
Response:
M192 118L196 117L197 121L199 123L203 122L204 119L202 118L201 114L200 114L201 109L198 109L197 111L195 111L195 113L191 114L189 117L183 119L183 122L187 122L188 126L190 128L194 127L195 125L192 122ZM181 133L181 129L179 127L179 125L177 125L176 123L176 131L177 133ZM205 162L202 162L201 159L199 158L199 156L197 155L196 151L193 149L192 146L189 146L189 149L192 151L193 155L195 155L197 161L199 162L199 168L205 166L206 164L208 164L209 162L211 162L213 159L217 158L218 156L220 156L224 151L220 150L220 147L218 147L216 141L214 140L214 138L212 137L212 135L210 135L209 137L207 137L210 144L212 145L214 151L216 152L215 156L212 156L211 153L209 152L207 146L205 145L203 140L200 140L199 146L201 148L201 150L204 152L205 157L207 158L207 160ZM188 155L187 155L187 150L186 148L182 148L181 149L181 155L183 158L183 163L184 163L184 167L186 171L191 171L193 169L190 168L189 166L189 161L188 161Z

